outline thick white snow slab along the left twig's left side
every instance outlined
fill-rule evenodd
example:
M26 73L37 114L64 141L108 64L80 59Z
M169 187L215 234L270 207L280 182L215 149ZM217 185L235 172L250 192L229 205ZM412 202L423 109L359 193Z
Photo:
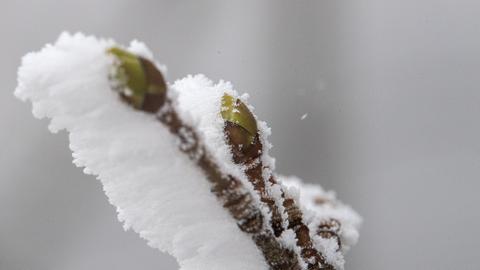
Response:
M154 115L125 106L110 90L112 40L63 33L22 59L15 95L33 114L69 132L73 162L103 184L125 229L175 256L181 269L267 269L247 234L210 193ZM143 56L152 54L135 41Z

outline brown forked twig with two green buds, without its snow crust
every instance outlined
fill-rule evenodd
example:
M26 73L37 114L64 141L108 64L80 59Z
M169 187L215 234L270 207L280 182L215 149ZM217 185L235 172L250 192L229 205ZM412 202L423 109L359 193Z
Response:
M188 155L207 176L213 194L223 203L239 228L251 235L271 269L298 270L304 266L312 270L334 269L315 248L311 237L312 233L328 238L336 235L340 241L337 232L327 229L330 228L329 224L322 224L323 227L320 227L318 232L310 232L303 221L303 213L298 203L278 183L270 168L263 165L261 159L263 145L256 130L256 119L240 100L224 97L224 106L230 104L228 106L233 106L230 109L235 109L232 111L241 113L241 117L236 118L235 114L224 114L225 108L222 108L222 116L225 119L224 132L231 146L233 161L245 168L244 172L256 195L269 209L268 217L261 211L253 195L240 179L220 170L204 142L199 139L195 128L181 119L167 95L168 88L163 75L155 65L122 49L112 48L109 52L119 60L118 72L114 79L123 83L116 84L115 90L135 109L156 114L158 120L179 139L180 151ZM143 72L143 77L138 75L139 70ZM130 75L131 72L134 72L135 76ZM274 189L279 190L281 195L274 196L272 192ZM270 221L269 226L265 224L267 220ZM295 233L299 254L281 242L280 236L287 229Z

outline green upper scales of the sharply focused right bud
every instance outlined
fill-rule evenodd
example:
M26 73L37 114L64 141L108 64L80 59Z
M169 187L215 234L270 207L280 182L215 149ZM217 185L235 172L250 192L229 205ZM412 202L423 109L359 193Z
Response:
M245 103L238 98L224 94L222 97L221 115L225 121L234 123L244 130L240 134L246 137L248 144L253 142L258 132L257 121Z

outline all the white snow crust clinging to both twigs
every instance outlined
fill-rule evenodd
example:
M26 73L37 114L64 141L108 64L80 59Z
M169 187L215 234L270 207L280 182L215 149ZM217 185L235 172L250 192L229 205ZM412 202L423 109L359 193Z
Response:
M202 172L177 149L177 139L154 115L132 110L110 90L108 75L113 59L105 50L113 45L113 40L63 33L55 44L23 58L15 95L32 102L35 117L51 119L52 132L69 132L73 162L102 182L124 228L139 233L150 246L172 254L181 269L268 269L254 242L238 229L210 192ZM145 44L132 41L128 49L154 62ZM166 71L164 66L157 66ZM204 75L187 76L169 88L173 106L199 131L221 170L240 179L259 201L245 168L232 160L220 116L224 93L245 104L248 95L239 95L229 82L215 84ZM254 108L247 106L253 112ZM269 168L264 178L268 179L275 168L275 159L268 154L271 131L263 121L257 120L257 125L264 146L261 160ZM269 194L280 198L284 189L286 196L296 198L311 232L322 221L340 221L341 250L334 239L315 235L312 239L329 263L343 269L343 254L358 239L360 217L337 201L334 193L303 184L295 177L279 178L285 186L267 186ZM315 204L318 197L326 203ZM277 206L283 209L281 204ZM261 210L269 216L266 207ZM265 226L268 223L264 222ZM280 240L298 249L292 230L285 230Z

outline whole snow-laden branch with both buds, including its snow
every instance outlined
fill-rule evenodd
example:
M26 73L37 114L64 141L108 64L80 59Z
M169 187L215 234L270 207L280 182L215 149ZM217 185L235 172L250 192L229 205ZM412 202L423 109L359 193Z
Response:
M247 95L164 74L143 43L62 34L24 57L15 94L70 132L75 164L125 227L182 269L343 269L358 215L319 187L282 184Z

